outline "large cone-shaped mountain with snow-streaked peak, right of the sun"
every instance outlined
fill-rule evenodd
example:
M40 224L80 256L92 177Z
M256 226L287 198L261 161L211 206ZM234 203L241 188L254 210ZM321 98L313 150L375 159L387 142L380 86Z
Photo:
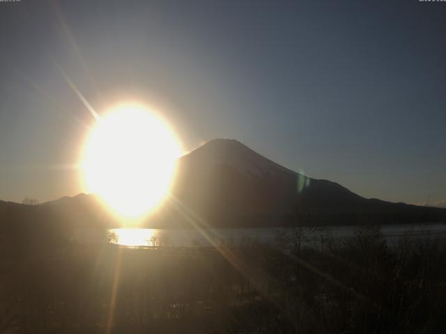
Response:
M214 139L182 157L175 185L172 193L187 209L218 226L403 223L446 217L446 210L362 198L335 182L295 173L229 139Z

